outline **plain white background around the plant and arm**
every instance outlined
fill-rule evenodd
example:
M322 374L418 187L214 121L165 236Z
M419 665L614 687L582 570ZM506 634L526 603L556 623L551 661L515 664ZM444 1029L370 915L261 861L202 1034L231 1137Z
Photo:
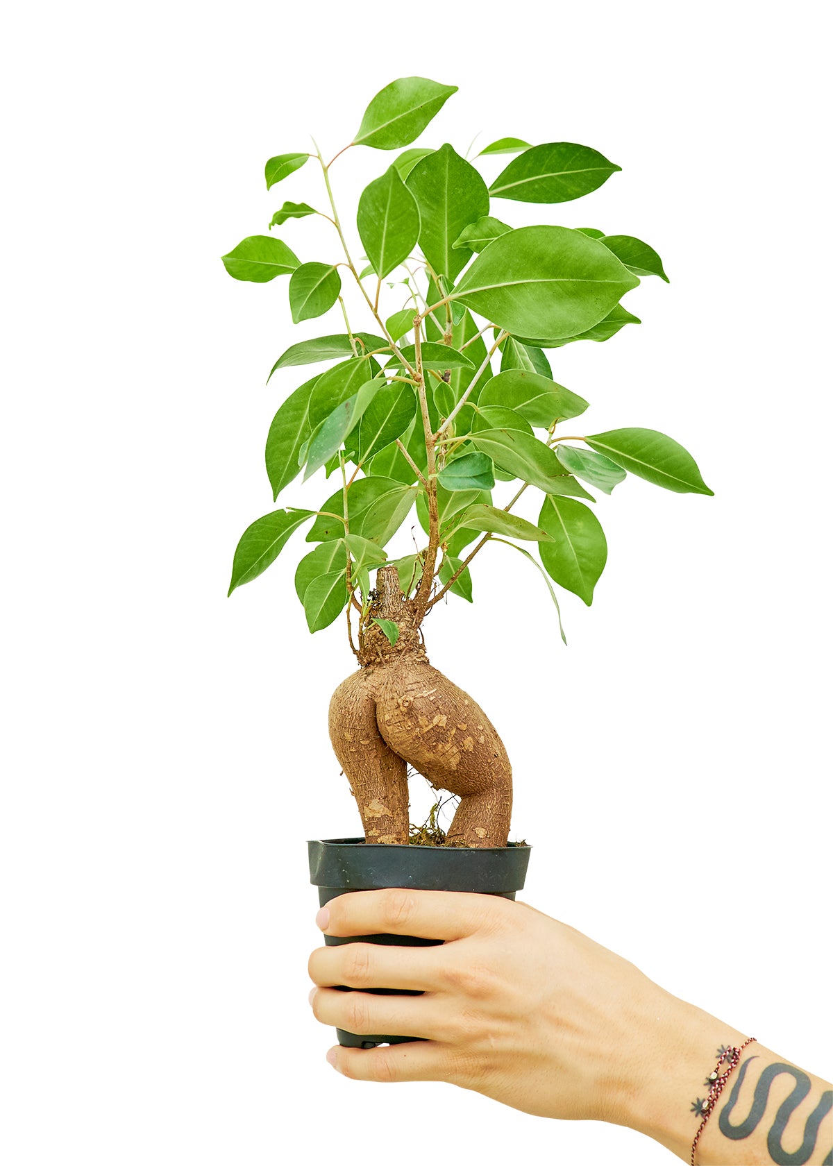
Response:
M267 157L310 133L335 153L408 73L460 85L428 145L576 141L623 167L581 203L497 213L660 252L671 286L629 296L642 326L565 347L553 371L592 401L587 431L668 433L715 491L629 478L600 498L609 566L592 609L564 598L568 648L502 547L477 561L475 605L429 620L432 661L513 760L525 898L831 1075L821 12L169 0L13 17L9 1166L259 1166L290 1145L314 1163L359 1146L402 1166L426 1146L484 1166L670 1160L447 1086L345 1081L307 1007L306 840L358 829L326 728L351 656L341 621L306 631L302 538L225 590L239 534L272 508L262 444L303 370L266 374L342 326L294 330L285 280L232 281L218 257L285 198L322 205L312 164L267 194ZM343 208L390 160L340 160ZM336 254L324 227L281 233L317 260Z

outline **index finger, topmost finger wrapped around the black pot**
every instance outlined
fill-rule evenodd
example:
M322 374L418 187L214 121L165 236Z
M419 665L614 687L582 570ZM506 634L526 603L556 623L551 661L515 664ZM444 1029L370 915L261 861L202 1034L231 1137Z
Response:
M499 926L506 904L498 895L460 891L351 891L330 899L316 922L327 935L415 935L447 941Z

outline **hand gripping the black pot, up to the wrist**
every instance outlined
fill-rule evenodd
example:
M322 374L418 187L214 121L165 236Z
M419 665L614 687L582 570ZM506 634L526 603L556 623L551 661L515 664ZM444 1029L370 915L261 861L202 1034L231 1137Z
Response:
M313 953L309 975L318 986L310 1002L322 1024L427 1038L330 1049L328 1059L348 1077L448 1081L530 1114L632 1125L640 1083L658 1051L663 1058L663 1034L671 1026L677 1039L680 1010L691 1009L628 961L523 902L444 891L362 891L331 899L320 926L338 936L444 941L401 948L357 942ZM337 991L335 984L359 991ZM360 991L371 988L425 995ZM734 1032L719 1031L723 1040ZM712 1055L709 1038L705 1047L698 1049L696 1074Z

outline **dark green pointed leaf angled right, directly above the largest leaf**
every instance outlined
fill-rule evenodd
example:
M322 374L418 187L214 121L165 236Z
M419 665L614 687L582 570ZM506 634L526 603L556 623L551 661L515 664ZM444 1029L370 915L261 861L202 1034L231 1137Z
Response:
M597 190L621 169L589 146L548 142L513 159L489 187L489 194L520 203L567 203Z

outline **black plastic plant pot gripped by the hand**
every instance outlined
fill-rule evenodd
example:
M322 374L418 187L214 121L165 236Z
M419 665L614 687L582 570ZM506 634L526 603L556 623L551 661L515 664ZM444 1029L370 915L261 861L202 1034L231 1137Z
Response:
M392 847L365 843L364 838L324 838L308 843L309 880L318 888L323 907L330 899L348 891L379 891L387 886L413 887L420 891L470 891L513 899L524 886L530 862L530 847L485 847L469 850L462 847ZM441 940L415 935L351 935L341 939L326 935L328 947L338 943L391 943L397 947L433 947ZM342 988L349 992L351 989ZM373 992L421 996L421 992L396 993L388 988ZM336 1028L338 1044L350 1048L376 1048L399 1045L413 1037L356 1035Z

